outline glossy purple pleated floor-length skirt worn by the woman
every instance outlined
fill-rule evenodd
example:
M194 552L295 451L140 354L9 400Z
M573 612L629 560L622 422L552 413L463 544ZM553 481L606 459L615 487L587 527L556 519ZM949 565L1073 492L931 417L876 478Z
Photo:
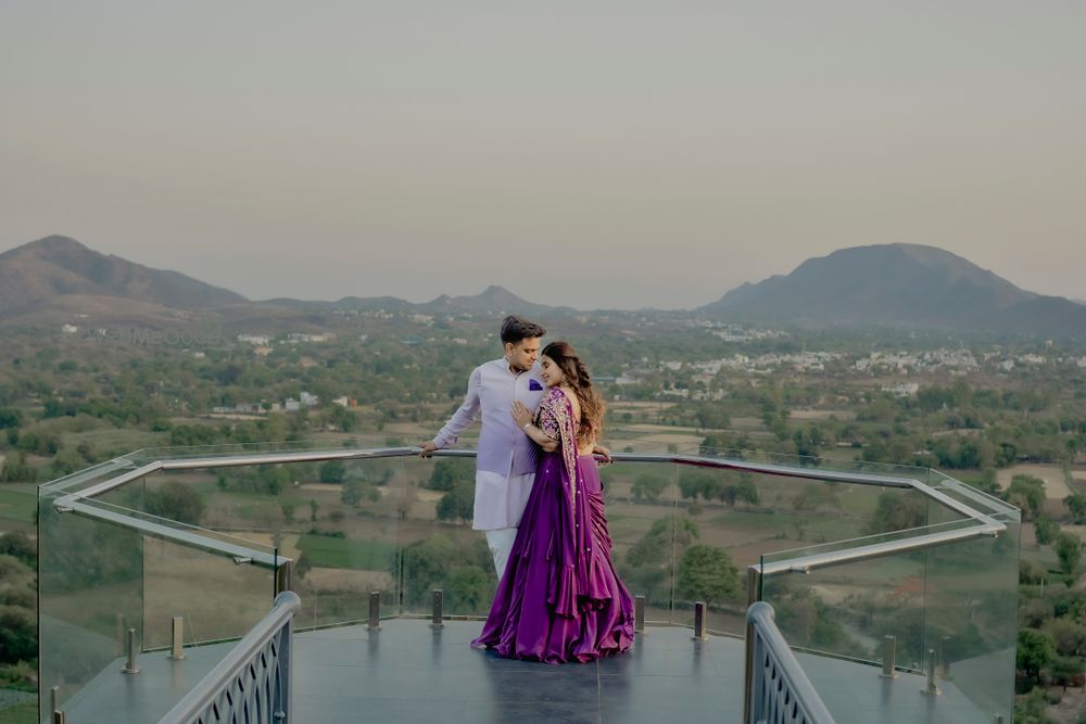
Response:
M505 575L472 646L546 663L592 661L633 644L633 599L611 562L599 471L542 453ZM576 491L576 494L574 494Z

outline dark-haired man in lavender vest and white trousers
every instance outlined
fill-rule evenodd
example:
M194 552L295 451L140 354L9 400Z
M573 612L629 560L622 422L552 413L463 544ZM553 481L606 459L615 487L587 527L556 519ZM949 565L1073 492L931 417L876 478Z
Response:
M468 378L468 393L441 432L422 445L422 457L447 447L480 412L479 449L476 454L475 516L471 528L487 532L497 577L505 573L517 525L535 479L535 446L513 419L513 403L531 410L543 397L536 359L540 338L546 330L509 315L502 321L505 356L476 367Z

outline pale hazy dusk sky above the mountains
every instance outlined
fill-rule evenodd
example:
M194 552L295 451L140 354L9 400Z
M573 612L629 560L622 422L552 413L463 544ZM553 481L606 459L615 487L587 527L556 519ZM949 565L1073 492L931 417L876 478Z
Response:
M0 3L0 251L691 307L940 246L1086 297L1086 3Z

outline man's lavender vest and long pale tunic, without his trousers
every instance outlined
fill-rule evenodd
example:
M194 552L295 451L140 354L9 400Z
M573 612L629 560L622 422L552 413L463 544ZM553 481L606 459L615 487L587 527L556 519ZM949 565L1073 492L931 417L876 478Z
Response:
M513 403L521 402L532 411L543 397L540 366L514 374L507 359L494 359L476 367L468 378L468 393L433 444L439 448L456 442L464 430L482 414L476 457L475 517L471 528L492 531L520 523L535 477L535 444L513 419Z

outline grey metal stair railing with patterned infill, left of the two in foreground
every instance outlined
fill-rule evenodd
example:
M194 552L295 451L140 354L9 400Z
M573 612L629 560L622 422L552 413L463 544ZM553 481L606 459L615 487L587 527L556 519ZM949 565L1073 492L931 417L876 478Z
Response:
M270 682L249 682L249 691L247 693L245 687L240 687L239 691L233 693L238 698L245 699L249 696L253 696L252 689L263 689L265 684L267 687L279 687L278 691L265 691L269 700L278 700L277 697L281 697L283 703L288 711L282 712L281 717L276 717L276 712L265 712L267 715L266 720L257 720L254 716L255 712L248 712L249 716L242 714L238 719L231 719L226 712L223 712L222 720L216 719L215 721L288 721L289 722L289 696L290 696L290 633L291 633L291 620L294 614L301 609L302 599L299 598L298 594L292 590L285 590L278 596L276 596L275 604L272 607L272 611L265 615L260 623L257 623L253 628L245 634L245 636L238 642L230 651L223 657L223 660L215 664L207 674L200 679L200 682L189 691L185 697L178 701L173 709L171 709L165 716L159 720L159 724L190 724L193 721L203 721L200 719L209 708L216 704L224 695L228 695L232 686L236 685L238 679L252 678L253 674L250 671L247 674L247 670L255 669L253 666L254 659L258 658L262 652L268 649L269 643L273 642L276 636L279 636L279 646L276 647L274 651L274 658L283 659L280 661L268 662L264 661L262 666L265 669L265 675L269 676L273 681ZM266 657L265 657L266 658ZM232 699L233 697L226 696L227 699ZM240 711L243 707L240 701L231 701L231 704Z

